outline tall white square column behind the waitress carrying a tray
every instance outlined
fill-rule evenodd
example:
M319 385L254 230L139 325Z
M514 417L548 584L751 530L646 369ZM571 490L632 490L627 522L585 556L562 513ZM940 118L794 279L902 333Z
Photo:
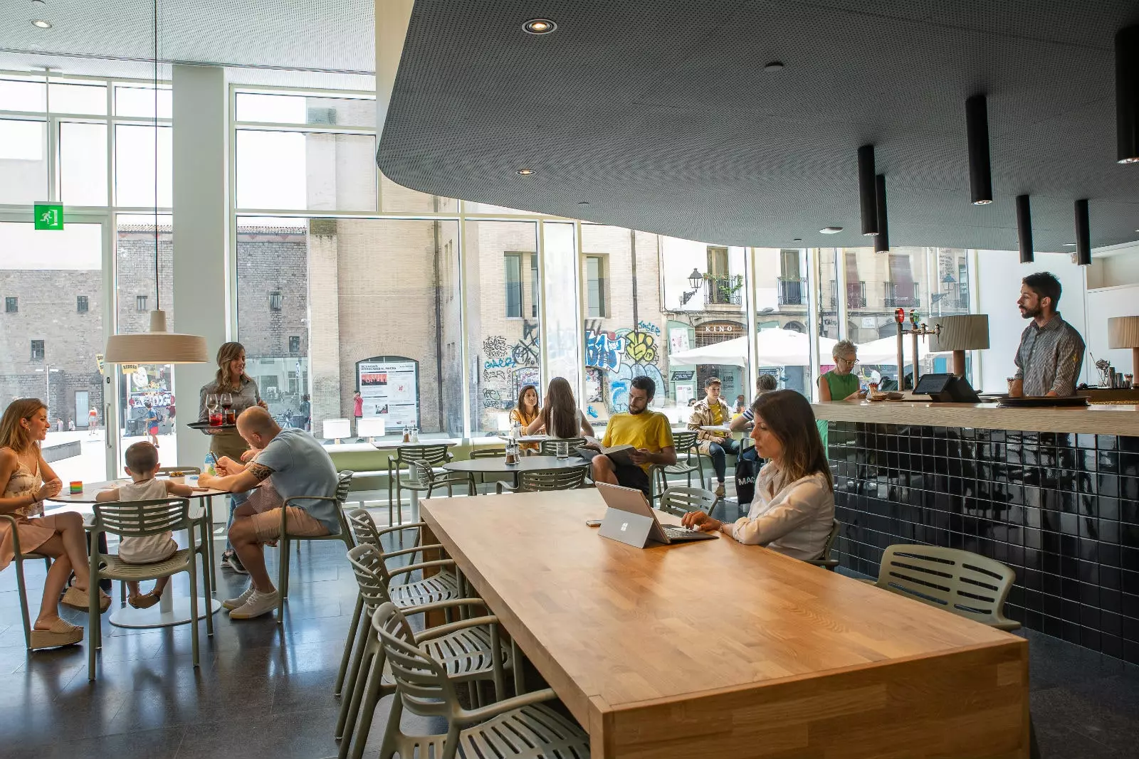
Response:
M174 310L172 329L202 335L211 355L230 339L229 173L226 71L175 65L174 98ZM205 435L186 422L198 413L198 390L218 366L174 368L178 463L202 465Z

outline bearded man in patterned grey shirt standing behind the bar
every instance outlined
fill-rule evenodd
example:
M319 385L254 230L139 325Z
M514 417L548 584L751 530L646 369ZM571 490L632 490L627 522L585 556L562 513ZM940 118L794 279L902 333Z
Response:
M1016 305L1021 315L1032 322L1021 335L1009 395L1075 395L1084 344L1075 328L1060 319L1056 311L1059 300L1060 282L1052 274L1038 272L1022 280Z

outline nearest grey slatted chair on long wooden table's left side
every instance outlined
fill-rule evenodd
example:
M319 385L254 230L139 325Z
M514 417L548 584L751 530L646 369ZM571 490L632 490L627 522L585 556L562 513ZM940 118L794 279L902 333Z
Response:
M474 624L476 620L460 622ZM482 617L493 633L491 651L497 653L497 617ZM576 724L544 706L557 698L552 688L519 694L486 707L464 709L456 695L446 666L416 644L407 619L385 603L372 616L384 655L391 666L396 695L387 717L380 759L433 757L494 757L495 759L588 759L589 736ZM442 628L436 628L441 630ZM407 735L400 728L403 709L424 717L442 717L448 732Z

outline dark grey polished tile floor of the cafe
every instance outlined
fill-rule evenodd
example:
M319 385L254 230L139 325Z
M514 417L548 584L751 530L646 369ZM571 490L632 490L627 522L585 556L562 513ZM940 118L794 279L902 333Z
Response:
M269 554L276 574L276 552ZM42 564L28 566L34 597L42 577ZM218 597L236 595L244 583L222 572ZM185 579L175 584L185 591ZM219 613L212 641L202 628L195 670L188 627L125 630L104 617L99 678L89 683L82 645L26 654L15 571L0 572L0 757L335 756L331 686L354 602L343 547L306 544L293 564L284 625L271 616L238 622ZM68 617L82 624L83 614ZM1139 667L1036 633L1024 636L1041 754L1139 757ZM378 753L387 701L379 710L366 756Z

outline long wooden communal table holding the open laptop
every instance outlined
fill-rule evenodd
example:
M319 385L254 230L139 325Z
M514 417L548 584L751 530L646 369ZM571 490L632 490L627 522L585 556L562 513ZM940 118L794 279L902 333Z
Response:
M604 511L423 502L593 758L1029 756L1024 640L726 536L633 548Z

